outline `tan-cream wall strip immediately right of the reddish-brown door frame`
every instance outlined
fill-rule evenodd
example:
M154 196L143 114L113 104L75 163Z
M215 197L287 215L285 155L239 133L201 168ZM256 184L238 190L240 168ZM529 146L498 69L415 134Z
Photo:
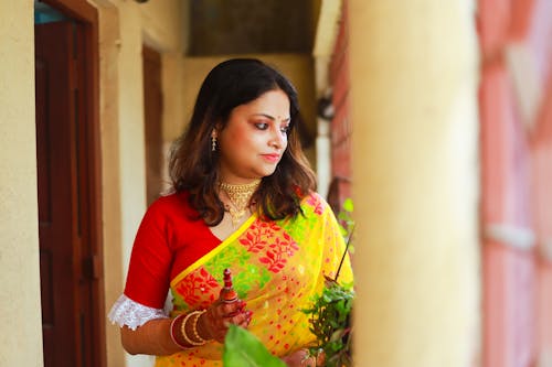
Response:
M99 19L99 122L102 130L102 217L104 220L104 284L105 310L109 312L124 289L123 206L120 188L119 122L119 12L104 1L96 1ZM121 94L123 91L120 91ZM128 158L127 158L128 160ZM128 211L128 209L127 209ZM129 229L127 229L127 233ZM128 235L127 235L128 238ZM107 366L125 366L126 354L120 344L119 327L106 323Z

